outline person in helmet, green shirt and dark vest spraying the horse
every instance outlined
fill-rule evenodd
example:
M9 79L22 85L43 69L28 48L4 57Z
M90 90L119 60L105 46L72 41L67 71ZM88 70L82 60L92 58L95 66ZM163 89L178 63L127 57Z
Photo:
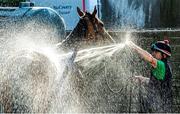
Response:
M152 44L152 54L141 49L131 41L129 42L129 46L152 66L150 78L143 76L134 77L135 80L139 80L141 83L148 82L147 97L146 100L143 99L142 112L171 112L172 72L168 64L168 58L171 56L169 41L157 41Z

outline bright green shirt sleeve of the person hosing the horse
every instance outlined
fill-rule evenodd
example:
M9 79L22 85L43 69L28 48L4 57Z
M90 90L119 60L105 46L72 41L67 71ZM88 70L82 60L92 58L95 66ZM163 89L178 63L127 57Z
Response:
M156 66L156 68L152 69L152 73L158 80L164 80L164 78L165 78L164 62L157 60L157 66Z

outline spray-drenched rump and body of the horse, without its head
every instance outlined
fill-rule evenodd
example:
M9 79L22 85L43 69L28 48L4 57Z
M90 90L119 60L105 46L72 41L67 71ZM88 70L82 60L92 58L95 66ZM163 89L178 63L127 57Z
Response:
M65 62L73 64L74 54L58 63L35 50L7 57L0 72L0 112L66 112L67 106L77 104L73 99L83 86L82 80L75 76L78 72L73 65Z

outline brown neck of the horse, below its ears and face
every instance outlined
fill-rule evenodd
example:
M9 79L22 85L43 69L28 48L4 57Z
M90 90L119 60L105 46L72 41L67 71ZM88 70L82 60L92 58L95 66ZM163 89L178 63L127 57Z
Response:
M115 42L112 37L106 33L100 35L98 38L98 40L96 38L88 40L86 36L86 27L84 27L84 25L79 22L77 24L77 26L74 28L74 30L66 37L66 39L63 41L62 43L62 47L64 48L69 48L69 49L73 49L73 48L80 48L83 47L84 45L104 45L104 44L111 44L113 42ZM106 40L106 41L105 41Z

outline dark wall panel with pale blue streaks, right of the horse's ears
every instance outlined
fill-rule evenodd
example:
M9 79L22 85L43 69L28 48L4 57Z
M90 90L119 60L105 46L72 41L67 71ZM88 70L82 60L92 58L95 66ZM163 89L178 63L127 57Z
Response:
M106 27L178 28L179 0L101 0L102 20Z

